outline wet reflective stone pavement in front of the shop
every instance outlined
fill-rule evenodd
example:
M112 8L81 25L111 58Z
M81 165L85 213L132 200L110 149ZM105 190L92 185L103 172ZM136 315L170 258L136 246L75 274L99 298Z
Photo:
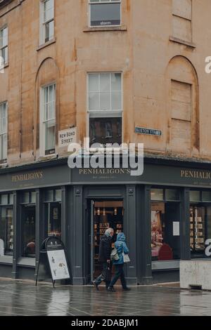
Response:
M0 316L211 315L211 292L168 286L133 286L110 293L100 286L56 286L0 279Z

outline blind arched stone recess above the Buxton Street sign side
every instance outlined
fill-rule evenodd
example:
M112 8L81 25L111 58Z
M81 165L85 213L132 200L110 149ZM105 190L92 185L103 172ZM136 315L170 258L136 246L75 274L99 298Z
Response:
M183 56L170 61L168 149L172 153L197 155L199 151L198 78L191 62Z

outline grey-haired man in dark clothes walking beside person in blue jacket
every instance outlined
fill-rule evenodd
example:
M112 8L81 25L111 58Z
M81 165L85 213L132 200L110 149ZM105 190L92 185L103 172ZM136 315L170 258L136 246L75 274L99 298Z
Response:
M98 290L98 285L101 282L106 282L106 289L110 284L110 277L111 277L111 262L110 262L110 253L112 250L112 237L114 235L113 228L108 228L105 232L105 235L101 237L101 242L99 246L99 257L98 261L103 265L103 272L102 274L94 281L94 285L96 286L96 290Z

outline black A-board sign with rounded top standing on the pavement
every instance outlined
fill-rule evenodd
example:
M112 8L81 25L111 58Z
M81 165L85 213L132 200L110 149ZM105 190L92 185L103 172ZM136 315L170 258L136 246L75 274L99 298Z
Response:
M58 279L70 279L65 246L56 236L48 237L41 244L36 286L40 279L51 279L53 287Z

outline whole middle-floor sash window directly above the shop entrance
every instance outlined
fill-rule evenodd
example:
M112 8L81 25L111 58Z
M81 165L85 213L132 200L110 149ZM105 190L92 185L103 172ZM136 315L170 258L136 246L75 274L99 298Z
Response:
M89 74L90 144L122 145L122 74Z

